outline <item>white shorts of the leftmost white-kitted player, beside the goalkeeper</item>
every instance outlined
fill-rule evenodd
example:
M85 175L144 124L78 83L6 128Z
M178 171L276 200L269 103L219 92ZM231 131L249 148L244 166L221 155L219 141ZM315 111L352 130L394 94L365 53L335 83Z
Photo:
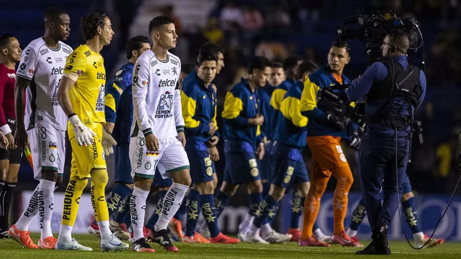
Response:
M66 159L66 132L54 127L34 127L27 131L32 153L34 178L41 179L41 170L64 173Z

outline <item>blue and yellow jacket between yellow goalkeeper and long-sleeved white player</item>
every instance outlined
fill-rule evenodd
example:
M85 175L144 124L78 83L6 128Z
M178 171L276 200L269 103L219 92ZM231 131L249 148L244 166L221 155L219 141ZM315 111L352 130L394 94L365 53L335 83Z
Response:
M130 142L131 123L133 122L133 81L134 64L128 62L115 73L114 80L106 83L106 121L115 123L112 136L117 143Z

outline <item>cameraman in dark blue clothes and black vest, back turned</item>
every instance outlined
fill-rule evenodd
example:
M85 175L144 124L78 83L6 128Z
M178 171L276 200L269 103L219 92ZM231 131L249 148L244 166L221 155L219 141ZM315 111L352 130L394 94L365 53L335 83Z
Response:
M391 253L387 230L402 196L413 111L421 105L426 93L423 71L408 62L409 44L409 35L403 30L386 35L381 46L386 61L373 63L346 91L350 101L366 96L367 131L359 152L359 170L373 232L372 242L357 254ZM398 192L396 186L399 186Z

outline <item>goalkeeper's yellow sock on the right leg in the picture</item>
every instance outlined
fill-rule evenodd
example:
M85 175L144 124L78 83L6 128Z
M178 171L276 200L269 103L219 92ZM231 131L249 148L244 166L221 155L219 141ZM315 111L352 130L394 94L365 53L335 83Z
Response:
M109 221L109 210L104 190L106 189L109 176L106 170L91 172L91 205L93 205L96 221Z

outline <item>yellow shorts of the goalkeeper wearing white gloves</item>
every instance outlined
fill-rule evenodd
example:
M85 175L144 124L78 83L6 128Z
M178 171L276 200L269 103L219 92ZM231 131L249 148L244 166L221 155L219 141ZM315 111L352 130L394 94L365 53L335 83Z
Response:
M90 177L93 168L107 169L106 158L101 145L102 124L93 123L89 127L96 133L91 145L79 146L75 137L70 139L72 146L71 178L74 176L80 179ZM68 131L73 131L73 128L68 127ZM72 133L72 135L74 134Z

